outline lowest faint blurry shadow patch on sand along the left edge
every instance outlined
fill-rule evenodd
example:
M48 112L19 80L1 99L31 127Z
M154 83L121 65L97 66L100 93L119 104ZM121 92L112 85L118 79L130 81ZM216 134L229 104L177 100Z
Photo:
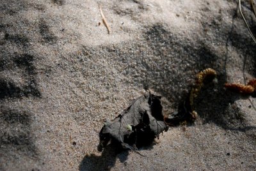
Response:
M31 115L26 111L0 108L0 152L15 156L19 151L31 158L37 156L37 149L31 134Z

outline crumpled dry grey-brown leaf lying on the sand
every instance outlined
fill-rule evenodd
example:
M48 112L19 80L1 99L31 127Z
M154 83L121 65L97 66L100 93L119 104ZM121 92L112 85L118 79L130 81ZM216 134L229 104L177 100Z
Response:
M109 142L118 142L125 149L136 150L168 130L162 114L161 96L150 92L134 100L113 121L100 130L99 151Z

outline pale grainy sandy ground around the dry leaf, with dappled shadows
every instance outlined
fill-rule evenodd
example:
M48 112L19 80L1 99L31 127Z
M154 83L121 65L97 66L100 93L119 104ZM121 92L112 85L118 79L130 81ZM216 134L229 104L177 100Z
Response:
M255 170L256 99L223 89L256 77L255 47L237 1L1 0L0 170ZM195 124L97 151L105 119L147 89L176 111L205 68Z

